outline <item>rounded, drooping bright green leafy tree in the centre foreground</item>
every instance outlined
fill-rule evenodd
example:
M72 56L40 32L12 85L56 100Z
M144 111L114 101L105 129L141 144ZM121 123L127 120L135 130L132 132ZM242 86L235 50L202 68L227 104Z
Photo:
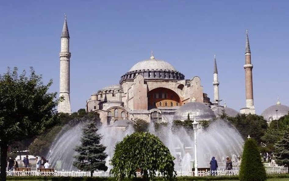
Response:
M149 132L133 133L116 143L111 160L111 173L118 179L136 177L137 170L143 178L153 179L159 171L167 179L175 177L175 158L157 136Z

